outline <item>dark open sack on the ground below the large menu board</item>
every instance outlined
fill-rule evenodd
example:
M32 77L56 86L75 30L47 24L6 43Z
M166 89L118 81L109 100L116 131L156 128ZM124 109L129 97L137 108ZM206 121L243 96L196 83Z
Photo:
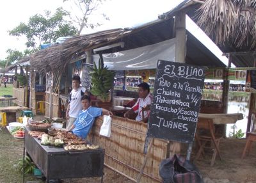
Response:
M161 161L159 175L164 183L204 183L195 164L176 154Z

